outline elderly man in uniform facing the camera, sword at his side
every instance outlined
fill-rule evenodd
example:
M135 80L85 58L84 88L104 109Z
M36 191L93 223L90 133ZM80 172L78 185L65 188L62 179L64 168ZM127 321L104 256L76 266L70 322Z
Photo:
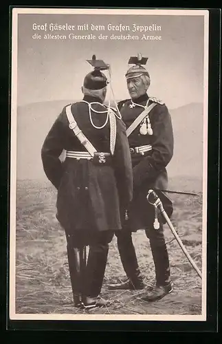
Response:
M118 103L131 150L133 200L126 213L124 230L116 233L120 258L128 280L111 284L109 288L144 288L131 233L145 229L155 264L156 283L144 299L155 301L171 292L173 283L170 281L170 264L164 240L164 218L159 210L148 203L146 195L150 189L155 190L168 215L173 213L172 202L161 189L167 188L166 166L173 157L174 140L168 108L161 100L147 94L151 78L143 66L146 61L147 58L142 58L140 54L130 59L129 64L133 66L126 73L126 83L131 98Z

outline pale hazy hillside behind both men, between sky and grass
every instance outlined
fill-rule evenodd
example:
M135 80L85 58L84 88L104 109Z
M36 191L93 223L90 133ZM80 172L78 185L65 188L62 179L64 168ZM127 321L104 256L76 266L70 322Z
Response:
M32 103L18 107L17 179L45 180L41 147L63 107L74 100ZM113 106L113 105L112 105ZM170 178L184 176L201 180L203 156L203 105L192 103L170 110L175 152L168 165Z

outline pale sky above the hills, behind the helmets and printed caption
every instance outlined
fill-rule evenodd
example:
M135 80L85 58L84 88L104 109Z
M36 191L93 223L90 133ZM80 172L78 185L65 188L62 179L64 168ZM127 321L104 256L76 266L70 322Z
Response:
M139 40L53 40L33 39L33 34L68 34L33 30L33 24L58 23L104 25L105 30L74 34L138 35ZM129 25L130 31L107 30L107 25ZM143 32L132 32L136 25L161 26L157 34L162 40L141 40ZM204 25L200 16L107 15L107 14L19 14L17 56L17 105L52 100L82 98L81 86L91 71L86 62L93 54L111 65L112 85L117 100L129 98L124 74L130 56L141 53L148 57L146 68L151 75L150 96L157 97L170 109L189 103L203 102ZM16 58L16 56L14 56Z

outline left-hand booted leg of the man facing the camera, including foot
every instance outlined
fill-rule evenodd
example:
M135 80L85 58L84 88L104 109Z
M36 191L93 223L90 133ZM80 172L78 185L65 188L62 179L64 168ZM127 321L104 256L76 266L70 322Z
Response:
M109 284L108 288L110 290L143 289L144 282L137 263L131 232L124 230L121 233L118 233L117 236L120 259L122 261L124 271L126 272L126 276L128 277L128 281Z

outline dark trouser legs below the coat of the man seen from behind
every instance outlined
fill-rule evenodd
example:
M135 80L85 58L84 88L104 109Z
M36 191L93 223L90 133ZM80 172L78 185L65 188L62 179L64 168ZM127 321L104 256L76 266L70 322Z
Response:
M100 294L107 266L109 243L113 239L113 235L114 232L111 230L93 233L76 231L73 235L67 235L69 275L74 296L98 297ZM76 250L79 249L81 253L84 246L89 246L89 255L84 271L81 267L79 272Z

